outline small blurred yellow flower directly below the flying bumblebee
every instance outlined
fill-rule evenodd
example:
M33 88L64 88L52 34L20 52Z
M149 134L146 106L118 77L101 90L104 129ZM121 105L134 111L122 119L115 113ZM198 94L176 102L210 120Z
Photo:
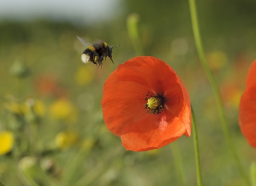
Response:
M90 83L94 78L94 74L91 70L88 69L87 66L83 65L79 67L75 74L75 80L77 84L84 86L88 83Z

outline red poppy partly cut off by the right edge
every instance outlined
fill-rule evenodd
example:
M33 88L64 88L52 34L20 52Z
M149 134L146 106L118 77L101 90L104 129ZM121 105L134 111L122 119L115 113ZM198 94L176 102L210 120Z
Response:
M256 148L256 60L251 65L241 97L239 125L247 141Z

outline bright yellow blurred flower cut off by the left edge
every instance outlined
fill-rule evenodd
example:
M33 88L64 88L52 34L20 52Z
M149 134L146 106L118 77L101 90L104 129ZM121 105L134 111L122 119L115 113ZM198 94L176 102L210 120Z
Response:
M13 133L9 131L0 132L0 155L9 153L13 146Z

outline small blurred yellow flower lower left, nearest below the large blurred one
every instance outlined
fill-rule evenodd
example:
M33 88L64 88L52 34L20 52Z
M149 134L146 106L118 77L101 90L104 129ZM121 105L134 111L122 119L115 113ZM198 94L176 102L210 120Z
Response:
M70 146L76 145L79 136L75 131L60 132L55 138L56 145L61 149L66 149Z

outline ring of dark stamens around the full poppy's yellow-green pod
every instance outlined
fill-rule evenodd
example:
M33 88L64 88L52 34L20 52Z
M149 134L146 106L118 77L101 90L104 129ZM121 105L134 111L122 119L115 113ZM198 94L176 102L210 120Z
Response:
M146 113L149 114L159 114L163 111L164 109L164 103L165 103L165 97L164 97L164 93L161 94L156 94L156 96L154 96L151 92L148 91L148 93L146 94L145 100L148 100L152 97L155 97L156 99L158 99L159 101L159 105L156 108L149 108L148 104L145 104L145 109L147 109Z

